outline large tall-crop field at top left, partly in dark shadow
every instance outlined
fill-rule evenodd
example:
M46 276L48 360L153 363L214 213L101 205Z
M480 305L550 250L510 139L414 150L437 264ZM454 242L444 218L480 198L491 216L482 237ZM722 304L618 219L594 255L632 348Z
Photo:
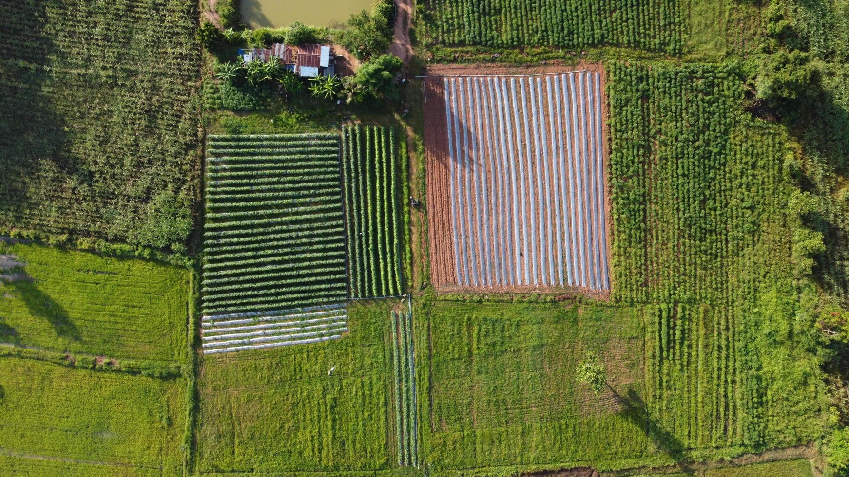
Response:
M197 7L0 3L0 231L183 247L200 187Z

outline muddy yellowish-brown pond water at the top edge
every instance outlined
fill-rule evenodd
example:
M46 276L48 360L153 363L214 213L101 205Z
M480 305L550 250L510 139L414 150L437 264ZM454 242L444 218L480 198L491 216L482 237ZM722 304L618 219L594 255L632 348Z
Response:
M293 21L329 26L351 14L371 10L374 0L242 0L242 21L251 28L279 28Z

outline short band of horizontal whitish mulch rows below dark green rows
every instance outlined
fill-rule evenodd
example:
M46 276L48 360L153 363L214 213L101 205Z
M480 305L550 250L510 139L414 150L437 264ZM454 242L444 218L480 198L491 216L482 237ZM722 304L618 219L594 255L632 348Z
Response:
M335 340L348 330L347 318L344 303L205 316L201 347L214 354Z

